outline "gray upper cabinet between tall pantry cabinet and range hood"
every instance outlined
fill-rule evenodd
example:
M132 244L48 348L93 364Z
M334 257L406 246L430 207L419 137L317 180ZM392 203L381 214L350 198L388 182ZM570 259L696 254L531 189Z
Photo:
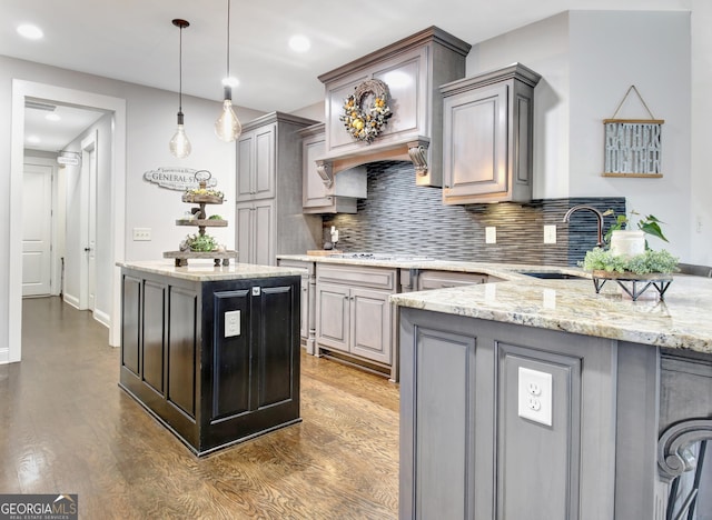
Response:
M356 202L366 198L366 168L342 171L330 179L317 159L324 156L326 136L324 123L299 131L303 137L303 197L305 213L356 213Z

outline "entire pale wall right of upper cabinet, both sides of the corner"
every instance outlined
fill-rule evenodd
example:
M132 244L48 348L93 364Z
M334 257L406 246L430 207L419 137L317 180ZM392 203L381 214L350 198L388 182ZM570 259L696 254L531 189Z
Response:
M543 76L535 91L535 198L626 197L630 209L665 221L671 243L653 247L694 262L691 52L688 11L568 11L474 46L467 76L514 61ZM602 120L631 84L665 120L662 179L601 176ZM620 117L646 114L633 101Z

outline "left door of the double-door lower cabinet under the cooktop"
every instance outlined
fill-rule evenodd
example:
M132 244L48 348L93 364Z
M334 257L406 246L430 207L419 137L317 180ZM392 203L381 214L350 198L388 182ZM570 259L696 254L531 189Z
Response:
M316 340L319 344L348 352L349 296L348 287L317 283Z

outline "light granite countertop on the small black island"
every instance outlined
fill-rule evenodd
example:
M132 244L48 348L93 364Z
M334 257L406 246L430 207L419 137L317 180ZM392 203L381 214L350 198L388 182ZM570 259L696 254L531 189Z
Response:
M210 261L210 263L196 262L185 267L176 267L172 260L117 262L117 266L120 268L135 269L137 271L198 282L288 277L301 273L298 269L294 268L255 266L251 263L236 263L216 267L212 261Z

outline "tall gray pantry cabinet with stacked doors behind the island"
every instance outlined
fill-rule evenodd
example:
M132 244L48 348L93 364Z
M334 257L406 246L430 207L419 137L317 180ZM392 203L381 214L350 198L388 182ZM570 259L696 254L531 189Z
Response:
M243 127L237 147L238 260L274 266L277 254L322 243L322 222L301 211L301 137L310 119L271 112Z

